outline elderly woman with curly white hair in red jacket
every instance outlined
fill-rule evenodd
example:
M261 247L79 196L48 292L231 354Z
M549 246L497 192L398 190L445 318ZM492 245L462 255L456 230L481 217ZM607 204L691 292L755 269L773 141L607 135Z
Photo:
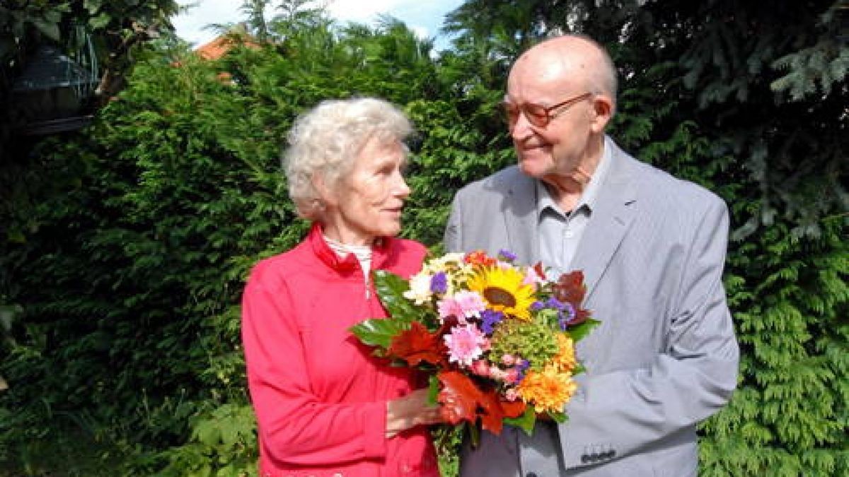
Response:
M290 196L312 229L259 262L243 298L263 476L439 475L426 428L438 407L413 371L371 356L349 331L386 316L370 271L406 278L424 258L423 245L395 238L411 131L391 104L357 98L319 104L290 132Z

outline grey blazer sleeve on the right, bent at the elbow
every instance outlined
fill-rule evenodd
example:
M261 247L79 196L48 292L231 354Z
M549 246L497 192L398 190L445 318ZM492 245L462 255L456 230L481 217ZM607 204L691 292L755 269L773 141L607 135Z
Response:
M569 421L560 428L580 436L580 443L571 440L573 446L563 448L567 468L593 460L587 459L593 448L610 449L606 458L644 451L692 429L730 398L739 348L722 287L728 243L722 200L710 201L691 237L682 272L664 278L679 280L679 291L670 306L666 346L651 366L576 377L582 391L567 406Z

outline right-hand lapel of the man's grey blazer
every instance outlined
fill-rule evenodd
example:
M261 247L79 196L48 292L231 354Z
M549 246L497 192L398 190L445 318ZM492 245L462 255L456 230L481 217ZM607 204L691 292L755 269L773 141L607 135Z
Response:
M605 146L613 148L608 177L599 189L593 216L584 230L571 264L571 268L584 273L586 299L593 295L595 285L599 283L625 237L633 220L633 202L636 201L636 184L631 172L632 165L629 164L633 159L616 147L613 141L607 141Z

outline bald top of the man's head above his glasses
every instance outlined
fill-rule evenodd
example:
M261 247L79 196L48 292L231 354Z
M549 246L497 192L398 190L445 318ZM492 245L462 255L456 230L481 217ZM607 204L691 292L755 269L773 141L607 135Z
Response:
M567 91L577 85L593 93L604 93L616 104L616 67L604 47L586 36L557 36L522 53L511 68L508 81L528 75L560 84Z

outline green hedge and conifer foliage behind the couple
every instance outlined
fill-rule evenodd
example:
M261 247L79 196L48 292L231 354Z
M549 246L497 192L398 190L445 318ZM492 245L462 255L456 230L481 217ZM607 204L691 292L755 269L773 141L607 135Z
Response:
M92 126L0 164L0 475L254 474L239 296L308 225L279 167L295 116L402 105L418 130L402 234L438 247L453 193L514 162L509 65L564 31L616 60L617 142L732 211L743 357L702 426L702 474L849 474L844 3L469 0L438 58L389 17L335 25L290 0L266 20L266 4L244 3L260 48L135 53Z

